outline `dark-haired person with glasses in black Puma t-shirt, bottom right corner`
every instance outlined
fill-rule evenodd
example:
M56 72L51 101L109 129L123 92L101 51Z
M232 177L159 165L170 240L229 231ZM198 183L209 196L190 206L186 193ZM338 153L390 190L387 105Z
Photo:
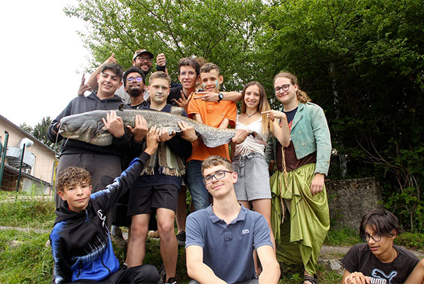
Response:
M398 218L389 211L366 213L360 224L360 236L366 243L354 245L344 256L342 284L405 283L418 258L393 245L398 233Z

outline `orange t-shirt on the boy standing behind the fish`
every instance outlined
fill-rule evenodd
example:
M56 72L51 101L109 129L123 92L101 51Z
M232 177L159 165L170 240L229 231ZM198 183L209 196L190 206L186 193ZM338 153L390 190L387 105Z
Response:
M218 127L224 120L228 118L230 125L236 124L237 105L235 102L229 100L221 100L218 102L206 102L204 100L190 100L188 103L187 114L189 117L194 118L194 114L202 116L203 123L209 126ZM191 156L187 161L198 160L204 161L211 155L218 155L223 158L230 159L228 152L228 144L220 145L215 148L208 148L204 145L203 141L196 141L192 143L193 150Z

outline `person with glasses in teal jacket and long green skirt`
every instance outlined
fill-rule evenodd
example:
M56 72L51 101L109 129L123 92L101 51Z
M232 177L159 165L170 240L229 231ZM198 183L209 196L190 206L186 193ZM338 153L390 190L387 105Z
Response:
M276 99L281 109L265 112L274 123L274 138L266 160L276 161L270 179L271 224L279 261L304 267L305 284L317 283L317 258L330 218L324 177L330 166L330 131L324 111L310 103L299 89L297 77L281 72L274 77Z

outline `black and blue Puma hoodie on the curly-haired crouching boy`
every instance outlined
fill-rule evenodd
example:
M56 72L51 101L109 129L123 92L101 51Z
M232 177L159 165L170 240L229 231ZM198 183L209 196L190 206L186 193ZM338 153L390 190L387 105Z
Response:
M50 234L54 260L52 283L102 281L118 270L119 262L107 228L107 211L130 188L149 158L143 152L134 159L113 184L91 195L85 210L71 211L68 202L56 209L55 226Z

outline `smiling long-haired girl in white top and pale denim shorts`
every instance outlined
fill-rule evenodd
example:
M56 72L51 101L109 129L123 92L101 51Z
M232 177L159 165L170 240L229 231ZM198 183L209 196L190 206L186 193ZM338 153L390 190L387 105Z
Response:
M270 109L263 85L255 81L247 83L242 90L242 107L236 118L236 129L255 131L267 141L271 123L262 112ZM247 136L242 143L231 145L231 157L233 168L238 173L238 181L234 184L238 202L262 214L271 229L270 174L265 161L265 145ZM270 236L275 247L272 231Z

